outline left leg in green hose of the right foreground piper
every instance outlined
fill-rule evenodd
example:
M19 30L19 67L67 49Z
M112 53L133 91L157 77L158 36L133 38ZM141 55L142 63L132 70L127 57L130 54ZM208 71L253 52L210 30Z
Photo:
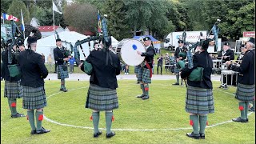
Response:
M190 125L193 126L193 132L187 133L186 136L199 139L200 134L198 131L198 114L190 114Z

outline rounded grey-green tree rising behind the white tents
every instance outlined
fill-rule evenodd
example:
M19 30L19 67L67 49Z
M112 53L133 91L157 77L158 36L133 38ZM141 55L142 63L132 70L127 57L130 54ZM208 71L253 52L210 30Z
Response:
M66 6L63 15L69 26L73 26L78 32L83 33L85 30L96 32L97 29L95 28L98 27L97 14L98 10L95 6L72 3L70 6Z

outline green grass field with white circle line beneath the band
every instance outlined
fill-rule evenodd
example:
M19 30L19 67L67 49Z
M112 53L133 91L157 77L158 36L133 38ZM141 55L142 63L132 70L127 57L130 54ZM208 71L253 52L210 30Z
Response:
M153 81L150 85L150 99L135 98L141 90L133 80L118 81L119 108L114 110L112 125L116 136L106 139L106 130L99 138L93 138L91 110L85 109L89 82L69 81L67 93L59 91L60 82L46 81L46 118L42 125L50 133L30 135L30 124L26 118L10 118L6 98L1 97L1 143L255 143L255 114L249 115L248 123L230 122L239 116L238 101L234 98L235 87L219 89L220 82L214 82L215 113L208 118L206 139L187 138L191 132L189 114L185 111L185 86L171 86L174 81ZM4 82L1 82L1 94ZM18 112L22 100L18 100ZM222 123L223 122L223 123ZM68 126L62 126L62 125ZM214 125L218 126L214 126ZM76 126L76 127L75 127ZM88 127L88 128L86 128ZM105 128L105 114L101 113L100 128ZM183 128L185 128L183 130ZM187 129L186 129L187 128Z

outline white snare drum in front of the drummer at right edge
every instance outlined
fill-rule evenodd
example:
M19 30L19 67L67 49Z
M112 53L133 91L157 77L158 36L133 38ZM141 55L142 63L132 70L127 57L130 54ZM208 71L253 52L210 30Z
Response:
M222 84L227 86L237 86L238 72L233 70L222 70Z

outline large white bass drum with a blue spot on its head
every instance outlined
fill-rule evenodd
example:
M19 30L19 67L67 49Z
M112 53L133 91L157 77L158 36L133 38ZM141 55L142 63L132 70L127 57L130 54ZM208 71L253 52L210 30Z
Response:
M137 39L123 39L118 43L115 53L119 55L122 63L129 66L138 66L145 57L137 54L137 51L146 52L146 47Z

